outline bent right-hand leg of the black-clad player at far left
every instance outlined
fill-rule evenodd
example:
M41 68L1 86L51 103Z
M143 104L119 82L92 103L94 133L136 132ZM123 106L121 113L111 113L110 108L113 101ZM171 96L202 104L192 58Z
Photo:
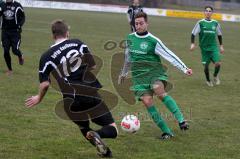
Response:
M24 64L22 52L20 51L21 34L16 31L11 33L12 52L18 56L18 62L20 65Z

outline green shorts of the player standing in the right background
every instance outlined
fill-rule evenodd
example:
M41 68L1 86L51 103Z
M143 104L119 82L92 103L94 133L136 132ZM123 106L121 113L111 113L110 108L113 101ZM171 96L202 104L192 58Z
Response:
M221 55L219 53L218 49L215 49L213 51L202 51L202 63L203 64L209 64L211 61L213 63L220 62L221 61Z

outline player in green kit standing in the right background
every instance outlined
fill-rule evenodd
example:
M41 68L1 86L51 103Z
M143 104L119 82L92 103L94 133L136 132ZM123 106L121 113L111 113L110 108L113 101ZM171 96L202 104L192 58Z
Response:
M199 20L193 28L190 46L190 50L193 51L195 49L195 36L199 34L199 46L202 53L202 63L204 65L204 73L207 80L206 83L210 87L213 86L213 82L216 85L220 84L218 74L221 67L221 57L216 41L216 35L218 35L220 43L220 52L222 54L224 53L221 27L216 20L211 19L212 14L213 8L211 6L206 6L204 10L205 19ZM213 82L209 76L209 64L211 61L215 64Z

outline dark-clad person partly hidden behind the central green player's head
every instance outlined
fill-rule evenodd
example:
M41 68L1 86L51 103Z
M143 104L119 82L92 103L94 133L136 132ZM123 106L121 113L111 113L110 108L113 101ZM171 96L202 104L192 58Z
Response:
M140 5L139 0L133 0L132 5L128 7L128 11L127 11L127 18L128 18L128 22L130 24L132 32L136 31L134 20L135 20L135 15L138 12L143 12L143 7Z

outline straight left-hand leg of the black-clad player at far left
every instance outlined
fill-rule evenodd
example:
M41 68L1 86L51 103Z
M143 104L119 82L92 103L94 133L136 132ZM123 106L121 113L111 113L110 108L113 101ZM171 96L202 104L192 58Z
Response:
M11 41L6 31L2 31L2 46L4 51L4 59L8 67L7 74L10 75L12 73L12 64L11 64L11 56L10 56Z

